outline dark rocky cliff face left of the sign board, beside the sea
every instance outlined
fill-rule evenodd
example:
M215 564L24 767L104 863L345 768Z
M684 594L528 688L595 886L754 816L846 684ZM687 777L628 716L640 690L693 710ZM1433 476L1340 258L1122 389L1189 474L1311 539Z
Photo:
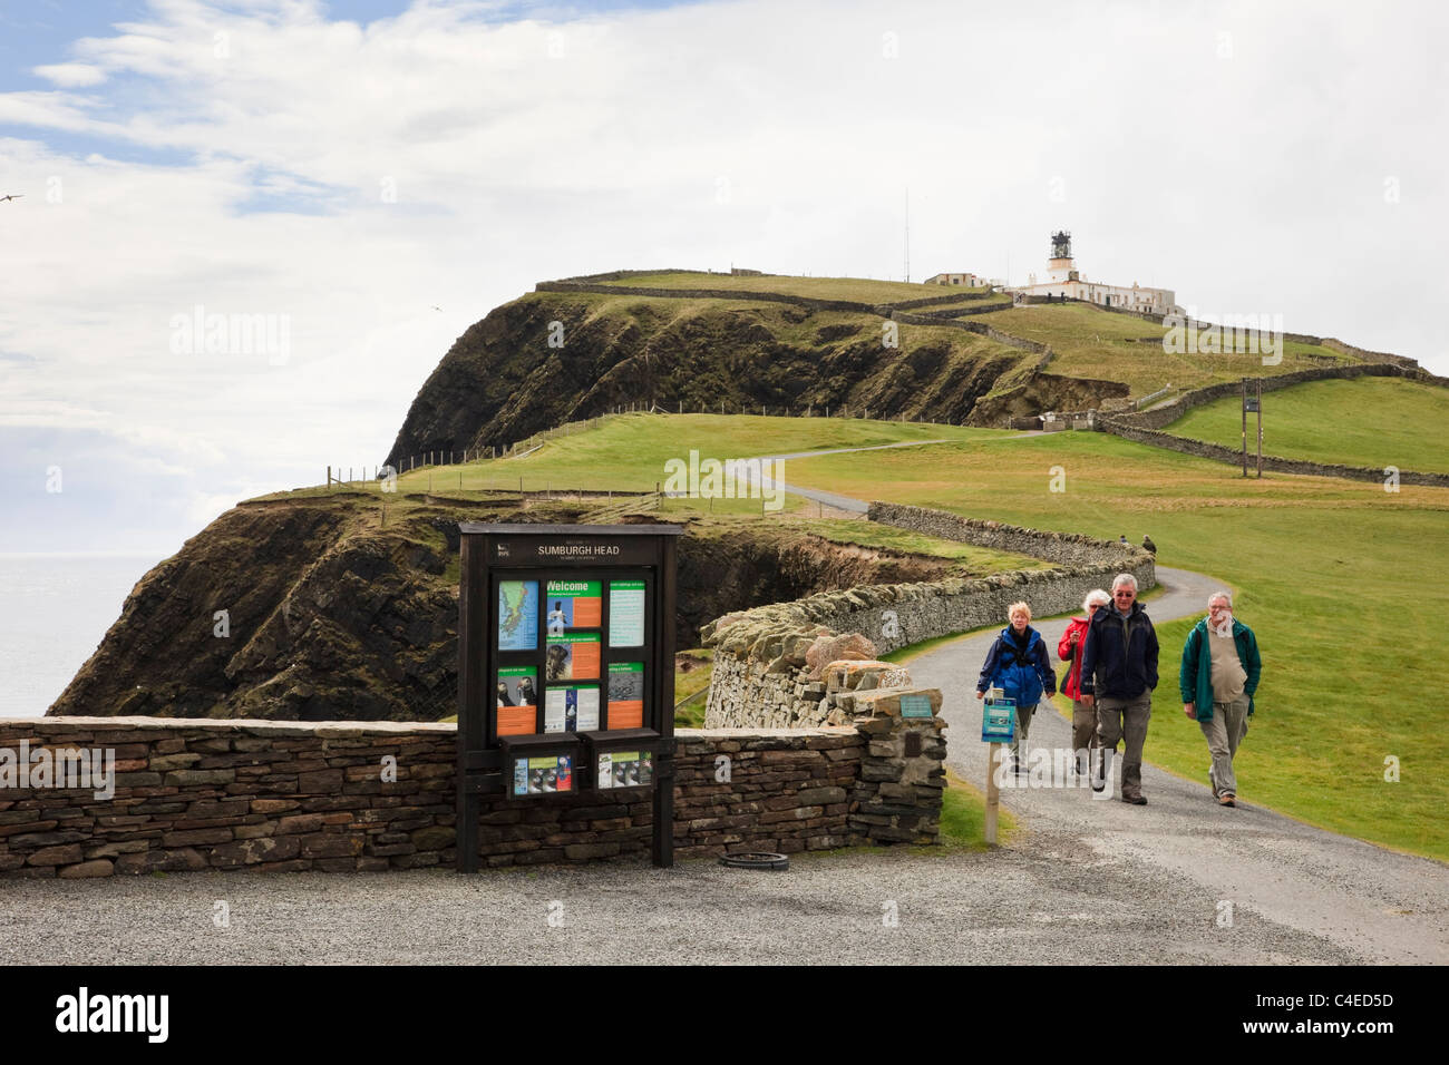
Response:
M456 580L438 517L384 529L375 501L348 497L229 510L141 578L48 713L452 713Z

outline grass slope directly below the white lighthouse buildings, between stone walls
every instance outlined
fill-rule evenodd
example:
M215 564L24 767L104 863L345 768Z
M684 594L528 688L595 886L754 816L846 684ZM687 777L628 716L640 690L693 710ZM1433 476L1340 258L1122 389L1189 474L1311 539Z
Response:
M1161 341L1142 343L1145 338L1162 338L1166 330L1130 314L1113 314L1082 303L1037 304L1013 307L974 316L1013 336L1049 343L1056 358L1046 372L1064 377L1087 377L1100 381L1124 381L1132 396L1148 396L1166 387L1201 388L1220 381L1243 377L1288 374L1333 362L1352 359L1329 348L1284 342L1282 362L1262 364L1262 355L1203 355L1174 354L1162 349ZM1308 358L1314 356L1314 358Z

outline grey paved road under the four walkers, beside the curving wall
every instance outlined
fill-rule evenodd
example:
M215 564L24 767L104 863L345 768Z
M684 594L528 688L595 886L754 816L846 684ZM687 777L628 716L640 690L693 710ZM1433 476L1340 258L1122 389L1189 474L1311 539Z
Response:
M1165 594L1145 604L1155 622L1204 613L1208 593L1222 587L1200 574L1166 567L1158 568L1158 580ZM1055 662L1056 640L1066 623L1043 622L1037 627ZM910 662L913 680L945 694L942 714L951 726L948 764L982 790L987 745L980 740L981 710L974 694L993 638L994 633L962 638ZM1177 687L1179 652L1179 648L1162 649L1164 685ZM1065 667L1058 675L1062 672ZM1172 717L1172 727L1195 730L1181 711ZM1253 727L1271 729L1271 716L1264 714ZM1245 743L1252 743L1252 732ZM1030 746L1069 749L1066 719L1039 713L1032 723ZM1146 753L1152 756L1151 739ZM1262 929L1293 929L1352 958L1449 962L1449 866L1253 806L1250 777L1239 777L1249 801L1240 795L1236 807L1220 807L1207 785L1207 764L1206 742L1201 780L1182 780L1145 764L1142 790L1148 806L1140 807L1093 798L1091 790L1075 777L1049 787L1003 790L1003 804L1027 830L1009 849L1056 855L1062 878L1069 882L1074 869L1084 871L1093 893L1130 893L1149 884L1175 882L1184 906L1230 903L1235 920L1249 913L1262 922ZM1051 898L1040 893L1037 897ZM1269 949L1266 940L1256 948Z

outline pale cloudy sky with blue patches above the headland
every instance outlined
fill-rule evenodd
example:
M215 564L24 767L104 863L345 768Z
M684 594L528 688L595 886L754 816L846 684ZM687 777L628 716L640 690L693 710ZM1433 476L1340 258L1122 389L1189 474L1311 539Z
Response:
M1436 4L0 0L0 552L381 464L535 283L1093 280L1449 374ZM256 322L210 351L190 323Z

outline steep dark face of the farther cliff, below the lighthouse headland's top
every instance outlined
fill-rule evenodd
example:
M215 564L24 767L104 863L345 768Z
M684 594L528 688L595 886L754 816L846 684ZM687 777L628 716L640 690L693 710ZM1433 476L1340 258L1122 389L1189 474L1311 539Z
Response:
M723 404L726 413L849 406L977 425L975 401L1030 358L974 333L911 329L888 348L881 320L867 314L533 293L458 338L413 400L387 462L503 448L627 403ZM551 336L562 346L549 346Z

